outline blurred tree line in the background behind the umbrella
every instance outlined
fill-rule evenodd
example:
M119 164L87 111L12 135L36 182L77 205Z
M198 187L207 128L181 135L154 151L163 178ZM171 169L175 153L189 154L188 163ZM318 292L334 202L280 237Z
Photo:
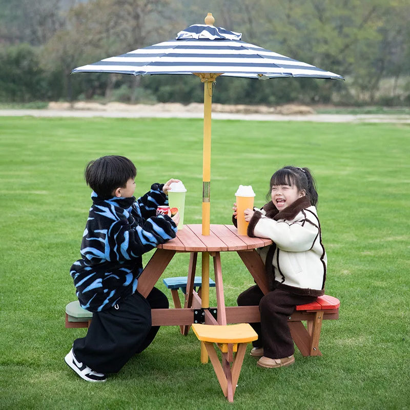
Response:
M71 75L75 67L169 40L211 11L245 42L338 73L217 80L213 100L410 106L408 0L0 0L0 101L200 102L195 76Z

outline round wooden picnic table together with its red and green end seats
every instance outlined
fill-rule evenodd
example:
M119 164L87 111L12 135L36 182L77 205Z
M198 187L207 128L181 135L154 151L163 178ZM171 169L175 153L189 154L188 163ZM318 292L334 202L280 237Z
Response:
M199 224L185 225L183 230L178 231L176 238L157 247L139 277L138 291L143 296L147 296L174 255L182 252L190 253L184 307L177 309L153 309L151 311L152 325L179 325L182 326L182 333L186 335L188 334L189 326L196 322L220 325L259 322L259 306L225 305L220 253L237 252L259 288L264 294L267 294L267 276L265 275L264 264L256 252L256 248L271 243L270 239L238 235L237 229L232 225L211 225L209 236L202 236L201 225ZM208 277L206 280L202 277L200 294L194 290L198 253L209 253L213 257L217 299L216 309L210 309L209 305L203 303L204 300L209 302ZM67 312L66 308L66 327L88 327L92 319L92 313L81 309L78 301L72 303L75 303L76 309L81 311L81 316L74 314L74 318L70 320L71 316L68 315L69 312ZM69 303L69 305L72 303ZM338 299L324 295L318 297L315 302L296 306L295 312L288 317L292 338L303 356L321 356L318 344L322 320L338 319L339 306L340 302ZM213 316L215 310L217 311L216 318ZM195 316L198 313L203 315L203 318L198 319L198 316ZM201 321L200 319L203 320ZM306 322L306 327L302 323L304 321Z

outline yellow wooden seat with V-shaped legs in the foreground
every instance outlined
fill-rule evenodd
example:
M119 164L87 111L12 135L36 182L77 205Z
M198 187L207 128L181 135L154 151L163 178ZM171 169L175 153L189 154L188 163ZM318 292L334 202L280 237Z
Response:
M232 325L194 323L192 330L207 348L222 392L232 403L247 344L256 340L258 335L249 323ZM222 365L219 362L214 343L222 352ZM234 352L236 352L235 357Z

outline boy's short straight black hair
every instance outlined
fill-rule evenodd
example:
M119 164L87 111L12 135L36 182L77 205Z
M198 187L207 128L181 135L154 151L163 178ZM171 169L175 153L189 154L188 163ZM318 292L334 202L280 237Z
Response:
M84 171L87 185L101 198L113 197L117 188L125 188L135 178L135 165L126 157L106 155L88 163Z

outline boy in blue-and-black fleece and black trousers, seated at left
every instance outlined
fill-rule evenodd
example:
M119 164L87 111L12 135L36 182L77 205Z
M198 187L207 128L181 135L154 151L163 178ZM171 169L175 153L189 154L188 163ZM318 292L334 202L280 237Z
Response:
M85 171L93 200L81 242L81 259L70 274L80 305L93 312L87 336L76 339L65 361L82 379L105 381L154 339L151 309L167 309L168 299L153 288L144 298L137 291L142 254L175 238L179 213L156 216L168 204L170 179L154 183L135 200L134 164L109 155L89 162Z

